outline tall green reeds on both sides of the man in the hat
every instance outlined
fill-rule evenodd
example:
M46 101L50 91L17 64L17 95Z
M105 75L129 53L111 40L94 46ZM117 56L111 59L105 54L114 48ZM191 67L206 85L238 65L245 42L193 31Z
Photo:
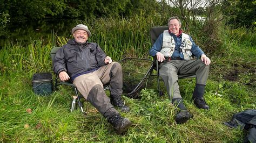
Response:
M110 55L114 61L126 56L148 58L150 28L163 25L166 18L157 16L143 17L135 15L131 18L98 18L81 22L89 26L92 37L89 41L96 42ZM72 27L68 27L72 28ZM28 46L11 42L4 46L1 55L2 73L21 71L35 73L51 70L50 51L52 46L63 46L71 37L52 34L51 41L44 44L42 39L33 40Z

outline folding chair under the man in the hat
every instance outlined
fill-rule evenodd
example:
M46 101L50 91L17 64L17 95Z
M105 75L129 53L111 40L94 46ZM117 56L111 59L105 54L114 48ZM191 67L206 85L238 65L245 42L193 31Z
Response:
M51 49L51 60L52 60L52 65L53 65L53 60L54 60L54 58L55 58L55 55L56 55L56 53L57 53L57 51L58 51L58 49L59 49L60 47L53 47L52 49ZM80 108L80 110L83 112L83 113L86 113L86 112L84 112L84 110L83 110L83 104L80 102L80 97L82 97L82 96L79 96L78 95L78 90L77 90L77 88L76 88L76 86L74 85L74 84L72 84L72 83L70 83L70 82L62 82L62 81L59 81L58 80L58 75L56 74L56 76L55 76L55 85L54 85L54 89L55 90L57 90L57 86L58 85L68 85L69 87L72 87L74 90L75 90L75 94L76 94L76 96L77 96L77 102L78 102L78 106L79 106L79 108ZM107 90L107 89L110 89L110 87L109 87L109 85L104 85L104 90ZM71 101L72 102L72 101ZM72 111L72 110L71 110Z

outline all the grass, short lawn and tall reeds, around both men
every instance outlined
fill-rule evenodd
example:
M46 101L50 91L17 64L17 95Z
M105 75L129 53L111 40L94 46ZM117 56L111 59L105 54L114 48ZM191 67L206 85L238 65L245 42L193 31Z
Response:
M150 48L147 33L151 26L162 23L161 19L155 20L133 17L85 23L93 25L91 31L95 34L90 40L98 42L118 61L123 56L147 58L145 53ZM44 44L38 39L25 47L19 43L6 45L0 51L0 141L241 142L246 132L223 123L234 113L255 109L255 45L247 42L246 37L240 41L241 38L230 34L232 32L227 31L221 34L221 49L228 52L217 51L210 55L212 65L205 94L209 111L198 109L191 102L194 79L179 80L184 104L193 118L185 124L176 124L177 110L170 104L163 82L164 96L159 97L156 80L152 80L140 92L140 99L123 96L131 111L121 114L132 121L125 135L118 135L89 102L84 102L88 115L84 116L79 110L71 113L69 106L75 94L68 87L60 87L50 96L33 93L33 73L52 72L49 54L52 42ZM59 45L67 40L55 39ZM143 66L142 69L144 71Z

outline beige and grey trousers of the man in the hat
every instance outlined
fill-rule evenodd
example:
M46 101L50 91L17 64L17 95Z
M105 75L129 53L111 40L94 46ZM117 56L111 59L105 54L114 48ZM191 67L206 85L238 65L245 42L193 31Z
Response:
M112 97L122 95L123 73L118 62L112 62L100 67L92 73L80 75L75 78L73 84L78 91L107 119L119 112L110 103L110 98L105 94L103 85L110 83Z

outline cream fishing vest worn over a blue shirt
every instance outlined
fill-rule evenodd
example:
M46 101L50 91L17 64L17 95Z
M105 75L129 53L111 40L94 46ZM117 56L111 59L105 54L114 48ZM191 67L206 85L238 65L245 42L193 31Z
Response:
M182 33L181 44L183 44L181 51L183 53L184 60L192 60L192 42L190 41L190 37L188 34ZM171 57L174 50L175 41L173 37L169 34L169 31L165 30L163 33L163 46L161 48L160 53L164 54L165 57Z

